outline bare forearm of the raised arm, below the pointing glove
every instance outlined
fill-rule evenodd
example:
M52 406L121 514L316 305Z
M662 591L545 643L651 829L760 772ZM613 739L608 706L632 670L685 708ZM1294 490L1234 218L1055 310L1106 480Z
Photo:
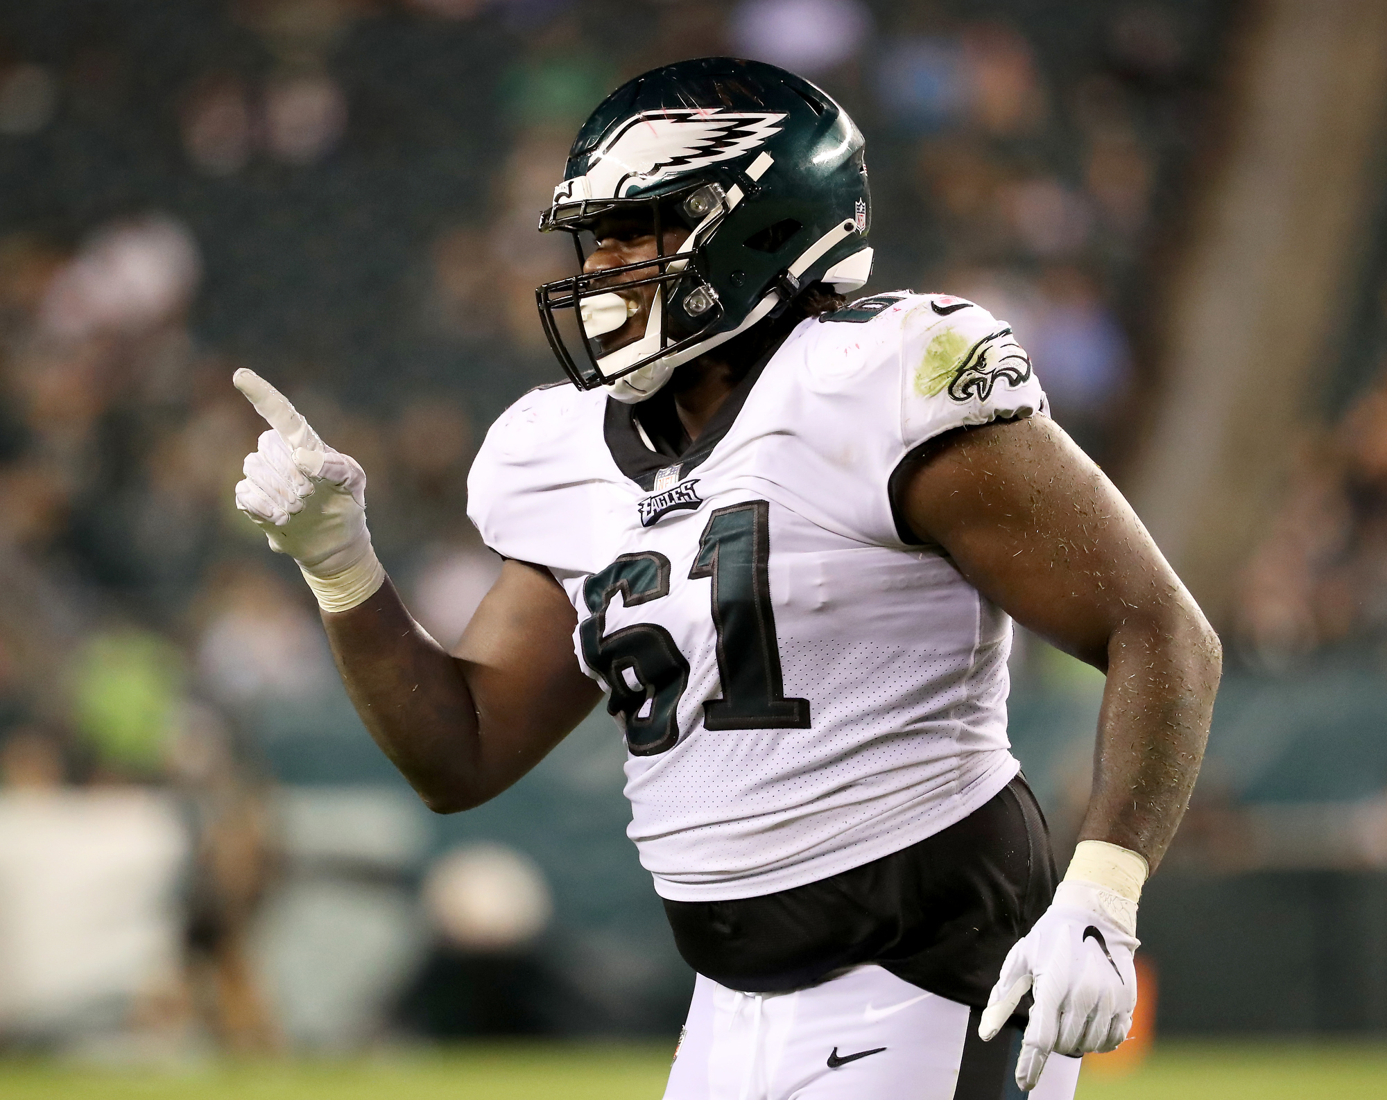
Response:
M433 809L476 779L477 711L456 658L387 579L351 611L323 614L337 671L372 738Z

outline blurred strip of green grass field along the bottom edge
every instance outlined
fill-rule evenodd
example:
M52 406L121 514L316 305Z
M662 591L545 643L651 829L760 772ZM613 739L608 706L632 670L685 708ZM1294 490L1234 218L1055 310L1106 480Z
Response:
M659 1100L667 1070L667 1047L534 1043L162 1071L0 1061L0 1100ZM1166 1043L1130 1076L1079 1086L1080 1100L1379 1096L1387 1043Z

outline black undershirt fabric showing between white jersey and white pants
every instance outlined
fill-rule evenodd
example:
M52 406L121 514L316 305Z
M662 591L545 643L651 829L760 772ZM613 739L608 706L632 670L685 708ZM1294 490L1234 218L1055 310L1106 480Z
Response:
M664 912L684 961L730 989L778 993L875 963L982 1007L1054 888L1044 816L1017 776L957 824L861 867L760 898L664 901Z

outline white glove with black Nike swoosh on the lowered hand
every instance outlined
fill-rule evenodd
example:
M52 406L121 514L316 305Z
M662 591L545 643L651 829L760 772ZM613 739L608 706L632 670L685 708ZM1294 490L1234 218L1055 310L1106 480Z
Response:
M1029 1092L1051 1053L1115 1050L1136 1009L1136 902L1094 882L1065 880L1050 907L1011 949L978 1025L994 1036L1031 991L1035 1004L1017 1058Z

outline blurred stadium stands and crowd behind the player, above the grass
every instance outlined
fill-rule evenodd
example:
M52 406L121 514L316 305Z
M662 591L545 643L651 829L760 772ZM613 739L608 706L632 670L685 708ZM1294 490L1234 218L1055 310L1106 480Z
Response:
M713 53L847 107L868 290L1008 319L1225 639L1143 901L1155 1042L1080 1096L1387 1082L1380 4L46 0L0 4L0 1096L497 1036L531 1045L258 1088L657 1094L691 975L609 720L423 810L232 506L258 428L229 378L362 461L452 641L497 568L470 456L558 377L533 290L570 254L534 224L571 134ZM1061 858L1100 691L1021 639L1013 738Z

